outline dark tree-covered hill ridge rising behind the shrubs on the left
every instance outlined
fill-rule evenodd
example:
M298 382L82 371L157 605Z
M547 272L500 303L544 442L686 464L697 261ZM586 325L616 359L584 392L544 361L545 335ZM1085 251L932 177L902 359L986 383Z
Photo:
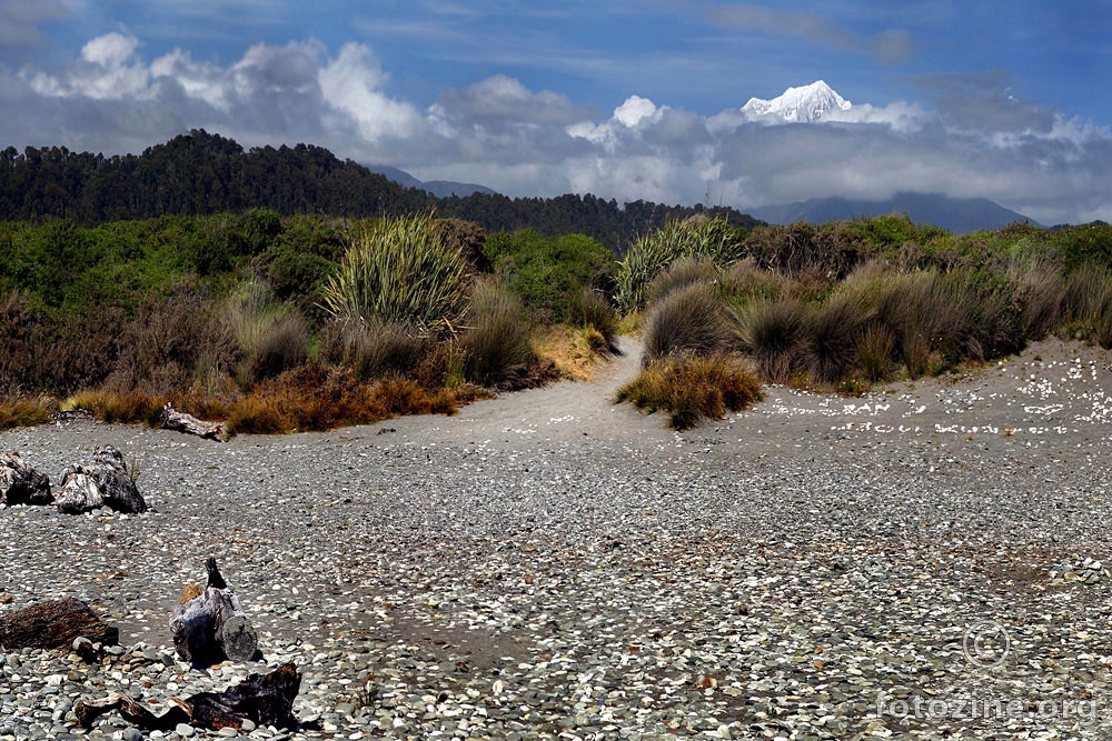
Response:
M244 148L193 130L142 154L105 157L64 148L14 147L0 152L0 220L69 219L95 226L173 213L199 216L251 208L282 214L397 216L436 210L488 231L535 229L584 233L622 250L637 234L686 218L702 207L617 201L594 196L516 198L475 193L438 199L404 188L351 160L311 144ZM715 209L731 223L759 223L732 209Z

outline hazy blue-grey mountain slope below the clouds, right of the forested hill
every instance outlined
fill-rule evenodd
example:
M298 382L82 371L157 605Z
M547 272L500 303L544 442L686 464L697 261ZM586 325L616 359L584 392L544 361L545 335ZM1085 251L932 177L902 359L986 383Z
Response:
M757 219L788 224L796 221L827 223L858 217L906 213L920 224L942 227L954 233L995 230L1016 221L1040 226L1030 217L1005 209L986 198L950 198L941 193L896 193L883 201L855 201L845 198L813 198L808 201L753 209Z

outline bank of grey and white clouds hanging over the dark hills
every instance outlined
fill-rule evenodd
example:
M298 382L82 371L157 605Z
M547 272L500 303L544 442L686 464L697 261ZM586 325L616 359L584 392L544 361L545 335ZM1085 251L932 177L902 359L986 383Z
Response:
M0 64L2 143L137 152L203 128L509 196L745 210L921 191L989 198L1043 223L1112 220L1112 132L1014 98L996 74L922 78L920 100L886 106L814 83L713 116L635 93L599 113L493 76L419 108L387 92L389 71L360 43L259 43L224 64L180 48L146 59L142 48L112 32L68 64ZM821 114L800 90L826 98Z

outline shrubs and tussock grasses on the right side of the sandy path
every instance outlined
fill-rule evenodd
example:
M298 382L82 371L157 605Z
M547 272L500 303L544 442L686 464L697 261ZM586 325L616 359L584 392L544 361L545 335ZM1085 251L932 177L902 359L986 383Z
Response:
M646 317L645 371L619 399L643 409L667 411L655 401L678 393L662 390L667 374L696 360L744 358L766 383L857 393L1052 333L1112 347L1108 224L950 234L883 217L757 228L717 254L671 243L638 242L619 268L619 304ZM678 419L719 415L705 398Z

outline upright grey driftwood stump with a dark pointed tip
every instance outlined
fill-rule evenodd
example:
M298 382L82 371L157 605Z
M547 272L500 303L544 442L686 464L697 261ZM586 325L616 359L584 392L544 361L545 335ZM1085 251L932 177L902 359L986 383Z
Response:
M225 582L216 559L205 562L205 591L173 609L170 632L173 648L185 661L209 667L226 659L250 661L258 654L259 640L239 598ZM185 597L185 595L183 595Z

